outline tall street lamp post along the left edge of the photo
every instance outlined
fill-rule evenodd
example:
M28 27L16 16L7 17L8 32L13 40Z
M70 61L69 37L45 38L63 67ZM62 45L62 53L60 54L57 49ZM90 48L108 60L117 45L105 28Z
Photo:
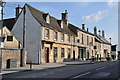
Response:
M3 29L3 7L5 6L5 2L3 2L2 0L0 1L0 6L1 6L1 40L0 40L0 43L2 44L2 42L3 42L3 31L2 31L2 29ZM0 54L0 73L2 72L2 46L1 46L1 49L0 49L1 51L1 54Z

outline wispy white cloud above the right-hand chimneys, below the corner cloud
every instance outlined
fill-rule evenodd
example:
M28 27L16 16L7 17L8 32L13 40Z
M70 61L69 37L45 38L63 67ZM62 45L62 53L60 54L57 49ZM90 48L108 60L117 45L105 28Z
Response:
M96 13L93 13L89 16L83 16L82 19L87 21L87 22L99 22L102 20L103 16L108 13L108 10L104 11L98 11Z

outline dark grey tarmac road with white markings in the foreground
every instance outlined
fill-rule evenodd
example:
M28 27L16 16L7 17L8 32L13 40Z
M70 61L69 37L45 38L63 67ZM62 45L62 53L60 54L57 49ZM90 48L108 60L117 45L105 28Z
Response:
M119 62L120 63L120 62ZM80 79L83 78L112 78L116 79L119 76L118 62L106 61L94 64L84 65L68 65L53 69L35 70L20 72L15 74L3 75L2 80L36 80L36 79ZM107 79L108 80L108 79Z

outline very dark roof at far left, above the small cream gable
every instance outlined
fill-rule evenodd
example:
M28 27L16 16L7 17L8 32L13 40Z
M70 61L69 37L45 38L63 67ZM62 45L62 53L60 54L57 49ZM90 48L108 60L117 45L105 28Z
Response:
M2 20L0 20L0 22L1 21ZM3 26L6 26L11 31L15 22L16 22L15 18L4 19L3 20Z

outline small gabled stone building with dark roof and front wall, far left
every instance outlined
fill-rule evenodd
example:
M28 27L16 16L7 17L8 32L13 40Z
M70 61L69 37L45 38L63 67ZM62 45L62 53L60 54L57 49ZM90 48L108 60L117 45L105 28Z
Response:
M0 21L1 23L2 21ZM0 43L0 57L2 57L2 68L20 67L21 64L21 43L12 35L11 29L15 23L15 18L4 19L2 31L2 40ZM1 58L0 58L1 59ZM14 60L11 64L10 60ZM24 63L26 59L24 58Z

